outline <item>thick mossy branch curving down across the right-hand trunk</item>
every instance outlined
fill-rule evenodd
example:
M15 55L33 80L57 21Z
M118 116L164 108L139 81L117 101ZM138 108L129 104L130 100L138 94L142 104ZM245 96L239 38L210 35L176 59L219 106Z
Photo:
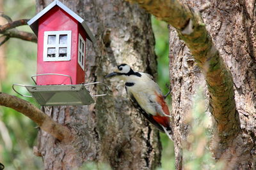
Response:
M234 83L230 71L212 43L200 13L177 0L129 1L137 2L149 13L175 27L180 39L188 46L207 81L209 104L216 120L220 147L225 149L228 140L240 131L234 100Z

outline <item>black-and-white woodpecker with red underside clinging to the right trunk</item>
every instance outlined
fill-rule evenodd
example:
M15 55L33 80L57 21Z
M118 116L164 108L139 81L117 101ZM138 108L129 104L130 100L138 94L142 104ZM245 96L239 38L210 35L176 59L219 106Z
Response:
M106 78L115 76L124 80L125 90L135 108L161 132L172 139L170 112L164 101L163 93L152 76L147 73L135 72L127 64L120 64Z

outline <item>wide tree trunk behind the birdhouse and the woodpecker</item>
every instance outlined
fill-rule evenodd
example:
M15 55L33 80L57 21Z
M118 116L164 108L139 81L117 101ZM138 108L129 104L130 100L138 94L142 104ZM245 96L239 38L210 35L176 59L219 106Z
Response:
M42 10L51 1L37 0ZM44 169L72 169L84 162L105 162L113 169L155 169L160 164L159 132L148 125L125 94L124 85L104 76L117 64L156 76L156 55L150 15L136 4L116 0L64 1L87 21L97 43L86 43L86 81L107 82L111 92L95 98L90 106L42 108L56 122L78 137L65 144L39 131L35 154L42 156ZM106 92L91 87L90 92Z

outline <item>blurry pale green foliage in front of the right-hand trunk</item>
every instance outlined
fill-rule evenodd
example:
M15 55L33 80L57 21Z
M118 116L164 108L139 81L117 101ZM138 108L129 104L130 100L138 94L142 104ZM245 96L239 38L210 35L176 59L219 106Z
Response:
M221 169L221 162L216 163L209 150L211 117L205 113L205 94L202 87L196 92L186 123L191 125L191 131L183 144L184 169Z

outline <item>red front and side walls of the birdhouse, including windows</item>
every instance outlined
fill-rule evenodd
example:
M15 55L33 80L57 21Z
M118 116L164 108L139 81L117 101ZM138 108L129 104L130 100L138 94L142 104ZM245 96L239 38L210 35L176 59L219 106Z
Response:
M65 74L84 83L86 32L76 19L54 6L38 20L37 74ZM60 75L36 77L37 85L71 84Z

